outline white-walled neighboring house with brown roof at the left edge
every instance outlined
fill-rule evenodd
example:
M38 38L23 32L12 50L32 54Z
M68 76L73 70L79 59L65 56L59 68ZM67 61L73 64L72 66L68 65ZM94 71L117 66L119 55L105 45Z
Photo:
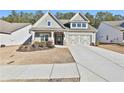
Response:
M23 44L30 36L29 23L9 23L0 20L0 46Z

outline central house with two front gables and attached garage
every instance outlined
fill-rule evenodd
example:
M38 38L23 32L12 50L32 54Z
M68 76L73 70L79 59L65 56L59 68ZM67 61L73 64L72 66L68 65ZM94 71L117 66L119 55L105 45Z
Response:
M81 13L71 19L57 19L50 12L44 14L31 28L33 41L53 41L55 45L90 45L95 43L96 29Z

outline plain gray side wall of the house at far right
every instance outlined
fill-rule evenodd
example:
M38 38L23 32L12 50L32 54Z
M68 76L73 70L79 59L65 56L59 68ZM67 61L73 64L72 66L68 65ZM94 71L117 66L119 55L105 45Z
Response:
M108 36L108 40L106 37ZM121 43L123 41L122 32L107 24L101 23L97 32L97 40L104 43Z

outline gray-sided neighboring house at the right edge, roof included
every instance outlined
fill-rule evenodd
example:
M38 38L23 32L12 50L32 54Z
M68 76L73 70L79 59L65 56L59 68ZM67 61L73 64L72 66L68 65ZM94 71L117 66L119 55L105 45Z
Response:
M97 32L97 40L103 43L124 42L124 21L104 21Z

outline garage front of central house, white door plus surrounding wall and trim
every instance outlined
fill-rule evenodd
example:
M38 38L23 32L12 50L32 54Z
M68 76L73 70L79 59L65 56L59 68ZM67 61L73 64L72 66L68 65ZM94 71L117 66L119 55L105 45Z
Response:
M95 43L95 33L67 33L68 45L90 45Z

